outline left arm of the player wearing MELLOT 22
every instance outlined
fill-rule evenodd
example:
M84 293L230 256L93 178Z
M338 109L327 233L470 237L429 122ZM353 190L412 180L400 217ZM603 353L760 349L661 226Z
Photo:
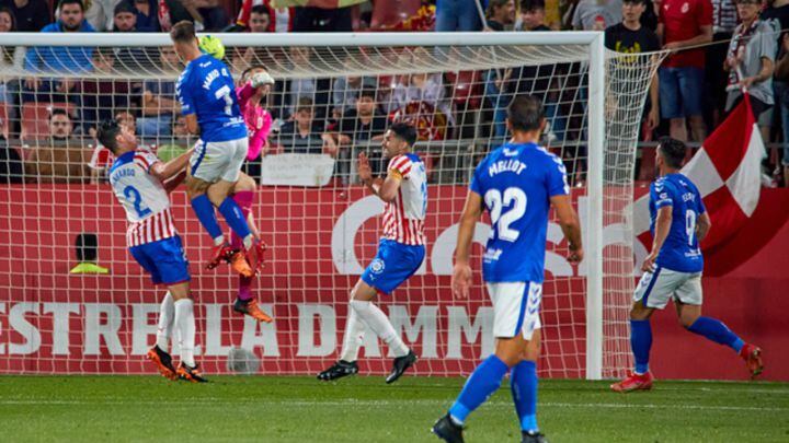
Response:
M469 190L466 196L466 205L460 214L458 240L455 246L455 267L453 268L451 278L453 292L459 299L468 298L471 288L472 273L469 256L471 255L474 228L480 217L482 217L482 196Z

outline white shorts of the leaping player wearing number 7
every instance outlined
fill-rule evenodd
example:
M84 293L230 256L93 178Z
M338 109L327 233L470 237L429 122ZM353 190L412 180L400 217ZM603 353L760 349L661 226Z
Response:
M203 182L216 183L220 179L236 183L239 179L241 165L247 160L249 139L242 138L228 141L197 140L195 151L190 159L190 172Z

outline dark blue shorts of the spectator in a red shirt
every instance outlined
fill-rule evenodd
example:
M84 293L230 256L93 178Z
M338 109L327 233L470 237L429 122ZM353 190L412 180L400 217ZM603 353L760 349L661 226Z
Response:
M661 118L700 116L704 94L704 69L660 68Z

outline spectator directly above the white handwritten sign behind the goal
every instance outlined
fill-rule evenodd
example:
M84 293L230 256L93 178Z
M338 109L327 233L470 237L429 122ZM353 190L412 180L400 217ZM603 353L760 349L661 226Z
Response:
M299 98L296 106L296 114L290 121L279 128L277 144L284 152L299 154L323 153L323 126L315 121L312 100L309 97Z

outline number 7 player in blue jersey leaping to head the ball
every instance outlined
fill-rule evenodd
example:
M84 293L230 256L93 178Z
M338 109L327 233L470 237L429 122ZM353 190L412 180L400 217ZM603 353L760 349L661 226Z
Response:
M252 277L258 268L255 237L236 201L229 197L247 159L249 139L247 125L239 108L230 70L221 61L199 49L194 24L176 23L170 38L186 68L178 80L175 93L186 128L199 132L190 161L186 191L197 219L214 240L214 254L207 268L226 260L244 277ZM214 207L247 250L233 249L225 238Z

